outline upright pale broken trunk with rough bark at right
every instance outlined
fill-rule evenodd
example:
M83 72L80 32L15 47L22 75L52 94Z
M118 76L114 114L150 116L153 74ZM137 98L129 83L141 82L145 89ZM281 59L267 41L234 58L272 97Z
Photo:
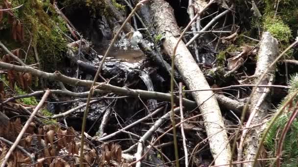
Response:
M253 84L259 82L259 78L268 69L268 66L273 63L273 61L278 56L278 44L277 40L269 32L264 32L262 35L262 40L260 43L260 49L258 52L258 62L255 70L255 79ZM260 84L272 84L275 77L275 66L273 66ZM270 88L268 87L258 87L255 93L252 95L249 118L252 118L251 125L259 125L263 123L265 117L268 115L268 111L271 108L271 95ZM248 119L249 122L249 119ZM256 126L251 128L248 133L244 143L244 161L254 160L256 151L258 149L258 139L260 138L261 132L264 130L263 126ZM252 167L252 162L243 164L244 167ZM262 165L257 164L258 167Z

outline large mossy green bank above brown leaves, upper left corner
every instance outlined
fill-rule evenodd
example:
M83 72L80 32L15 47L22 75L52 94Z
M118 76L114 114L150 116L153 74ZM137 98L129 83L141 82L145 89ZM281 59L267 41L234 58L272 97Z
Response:
M31 42L31 46L36 46L44 68L54 70L52 64L58 62L67 49L67 41L63 34L68 32L65 22L55 12L50 0L12 1L12 7L21 4L23 6L13 10L13 13L24 25L25 41L15 42L12 39L12 25L7 22L7 15L4 15L4 19L0 23L0 27L3 27L0 34L5 34L0 39L11 50L17 47L27 50ZM26 63L36 63L33 49L29 49Z

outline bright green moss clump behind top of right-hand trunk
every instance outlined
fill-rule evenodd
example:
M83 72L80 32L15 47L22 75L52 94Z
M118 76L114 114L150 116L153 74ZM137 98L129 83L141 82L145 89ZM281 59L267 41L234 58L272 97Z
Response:
M280 42L289 42L292 38L290 27L279 18L267 16L263 22L265 31L269 31Z

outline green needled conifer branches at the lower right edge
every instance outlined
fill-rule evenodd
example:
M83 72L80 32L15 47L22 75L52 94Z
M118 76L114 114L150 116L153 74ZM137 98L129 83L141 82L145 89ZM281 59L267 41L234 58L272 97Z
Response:
M289 90L289 94L285 99L281 102L278 108L281 108L285 102L293 95L295 91L298 90L298 74L293 75L291 77L290 83L291 89ZM293 106L298 101L298 97L295 97L293 100ZM288 108L286 108L287 110ZM269 129L269 132L266 136L264 145L266 146L269 155L275 156L276 152L276 142L278 142L278 138L281 135L282 129L286 125L289 120L292 112L287 114L283 114L280 116L273 126ZM283 144L283 154L282 154L282 167L297 167L298 166L298 120L296 119L292 125L288 133L286 134L286 138Z

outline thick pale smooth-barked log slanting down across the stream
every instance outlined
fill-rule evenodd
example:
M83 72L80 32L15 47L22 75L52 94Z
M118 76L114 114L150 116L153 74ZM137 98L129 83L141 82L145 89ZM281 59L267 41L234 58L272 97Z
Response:
M164 0L154 0L151 3L154 25L158 34L165 35L163 42L165 50L172 55L180 32L174 18L172 7ZM210 89L207 81L193 56L183 42L179 42L175 65L190 90ZM212 91L198 91L192 93L203 114L204 125L209 139L211 153L215 165L228 164L231 156L230 145L224 128L222 114Z

